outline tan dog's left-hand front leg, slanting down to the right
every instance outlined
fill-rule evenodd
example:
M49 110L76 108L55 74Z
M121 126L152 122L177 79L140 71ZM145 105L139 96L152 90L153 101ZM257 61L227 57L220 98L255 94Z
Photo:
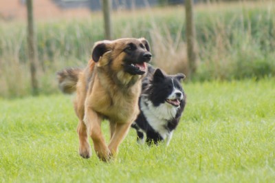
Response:
M105 143L104 136L101 131L102 117L96 113L91 107L87 107L85 110L85 125L89 136L94 142L94 149L98 158L103 161L107 161L110 158L110 151Z

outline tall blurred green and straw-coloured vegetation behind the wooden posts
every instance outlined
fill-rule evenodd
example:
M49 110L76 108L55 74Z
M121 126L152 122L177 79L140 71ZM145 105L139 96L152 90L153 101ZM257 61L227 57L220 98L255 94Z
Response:
M192 80L262 78L275 74L274 3L230 3L195 7L199 52ZM41 93L57 91L55 72L83 67L95 41L104 39L101 14L87 19L36 23ZM23 22L0 22L0 96L30 94L28 52ZM114 12L114 39L144 36L151 43L153 64L168 73L186 65L184 8ZM190 79L190 78L189 78Z

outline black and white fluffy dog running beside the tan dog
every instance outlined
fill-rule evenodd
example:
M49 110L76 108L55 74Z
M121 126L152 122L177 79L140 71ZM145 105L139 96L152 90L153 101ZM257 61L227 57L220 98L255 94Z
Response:
M149 145L164 140L169 144L186 105L180 83L184 78L181 73L167 75L161 69L148 67L148 74L142 80L140 114L131 126L137 131L137 142L144 142L146 133Z

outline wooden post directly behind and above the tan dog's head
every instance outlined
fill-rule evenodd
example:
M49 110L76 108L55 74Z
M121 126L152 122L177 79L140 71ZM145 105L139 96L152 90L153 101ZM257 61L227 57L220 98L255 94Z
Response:
M104 29L105 29L105 39L111 40L112 26L111 26L111 0L102 0L102 11L104 16Z

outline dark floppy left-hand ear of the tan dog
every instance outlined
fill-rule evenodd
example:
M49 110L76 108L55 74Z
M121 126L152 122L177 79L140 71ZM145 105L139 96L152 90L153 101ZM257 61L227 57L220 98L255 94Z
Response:
M93 61L97 63L100 59L100 56L110 50L110 45L111 41L100 41L95 43L94 50L91 54L91 58L93 58Z

